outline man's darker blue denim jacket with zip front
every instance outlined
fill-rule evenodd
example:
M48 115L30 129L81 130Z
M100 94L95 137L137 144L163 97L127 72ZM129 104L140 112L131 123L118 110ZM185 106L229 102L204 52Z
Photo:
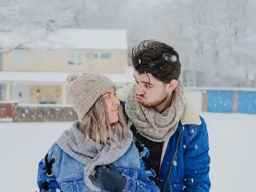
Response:
M120 102L124 115L125 102ZM208 131L202 116L196 124L178 124L164 142L160 167L161 192L209 192L210 156ZM126 118L128 118L126 116Z

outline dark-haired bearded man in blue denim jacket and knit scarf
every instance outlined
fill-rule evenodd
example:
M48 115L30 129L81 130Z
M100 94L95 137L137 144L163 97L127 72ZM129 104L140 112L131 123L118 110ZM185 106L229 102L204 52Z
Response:
M161 192L208 192L208 132L193 100L185 99L178 53L146 40L133 48L132 64L135 85L117 97L128 128L150 150Z

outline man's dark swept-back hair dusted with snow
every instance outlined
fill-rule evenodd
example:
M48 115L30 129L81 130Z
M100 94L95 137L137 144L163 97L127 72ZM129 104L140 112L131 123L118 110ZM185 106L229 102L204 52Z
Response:
M132 49L132 65L139 73L149 73L164 83L178 80L181 64L173 47L156 40L142 41Z

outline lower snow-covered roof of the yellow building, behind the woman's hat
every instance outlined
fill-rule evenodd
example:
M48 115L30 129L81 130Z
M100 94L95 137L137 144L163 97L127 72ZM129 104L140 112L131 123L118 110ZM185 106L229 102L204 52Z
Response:
M11 72L0 71L0 84L42 84L42 85L63 85L66 84L66 77L71 74L82 74L76 72ZM117 86L134 83L133 68L126 66L125 73L102 73L112 79Z

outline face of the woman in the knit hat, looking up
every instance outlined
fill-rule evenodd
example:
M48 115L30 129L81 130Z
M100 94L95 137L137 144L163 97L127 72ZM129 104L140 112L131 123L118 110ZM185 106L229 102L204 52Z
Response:
M107 106L108 106L108 116L109 116L109 122L115 123L118 121L118 106L120 104L120 101L118 98L116 98L116 91L114 87L109 88L106 90L102 97L104 98Z

